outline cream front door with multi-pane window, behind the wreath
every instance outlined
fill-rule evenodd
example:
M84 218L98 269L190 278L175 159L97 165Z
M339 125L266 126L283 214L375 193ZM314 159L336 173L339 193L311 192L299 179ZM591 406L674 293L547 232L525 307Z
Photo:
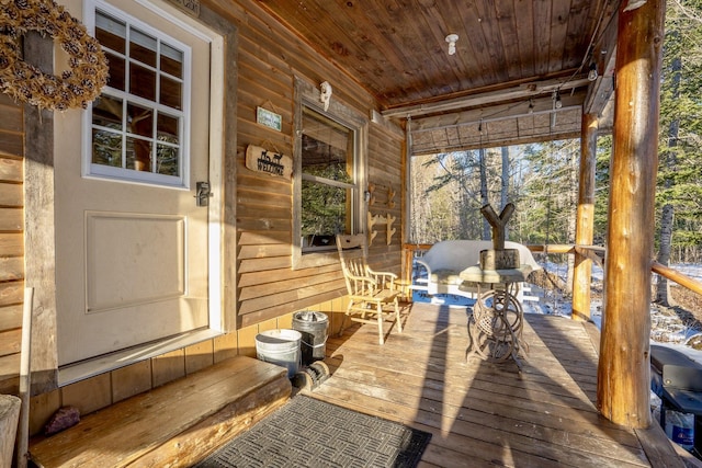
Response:
M132 0L84 5L110 81L55 117L59 365L210 324L211 44Z

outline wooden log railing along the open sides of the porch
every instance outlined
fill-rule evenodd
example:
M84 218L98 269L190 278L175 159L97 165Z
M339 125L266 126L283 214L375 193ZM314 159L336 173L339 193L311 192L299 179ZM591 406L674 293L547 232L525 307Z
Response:
M405 278L411 278L412 275L412 259L415 256L415 252L426 251L431 249L431 243L404 243L403 252L404 260L403 265L405 269ZM575 244L548 244L548 246L526 246L529 250L532 252L543 252L543 253L579 253L588 259L592 260L600 266L603 265L605 249L603 247L598 246L575 246ZM659 274L682 287L686 287L697 294L702 295L702 282L691 278L675 269L666 266L656 261L652 262L650 266L652 272Z

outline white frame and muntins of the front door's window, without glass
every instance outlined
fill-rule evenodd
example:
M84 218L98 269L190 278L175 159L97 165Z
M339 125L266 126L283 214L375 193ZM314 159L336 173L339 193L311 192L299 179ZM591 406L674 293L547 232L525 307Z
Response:
M83 113L83 144L82 144L82 175L83 178L103 179L115 182L138 183L148 185L158 185L163 187L173 187L190 190L190 121L191 121L191 87L192 87L192 50L190 46L181 43L180 41L170 37L168 34L155 28L151 25L144 23L129 15L128 13L113 7L101 0L84 0L84 24L88 31L94 36L95 33L95 11L100 10L103 13L114 16L121 21L126 22L131 26L148 33L159 41L168 43L169 46L178 48L183 53L183 78L182 78L182 111L174 110L155 103L144 98L129 94L127 91L117 90L105 85L102 90L104 94L110 95L122 101L123 106L126 103L133 103L141 105L148 109L154 109L157 112L162 112L170 116L178 116L180 122L180 148L179 148L179 175L166 175L147 171L136 171L126 168L115 168L104 164L97 164L92 162L92 103L88 105L87 111ZM128 43L128 37L127 37ZM116 55L121 55L116 52L112 52ZM124 57L127 60L126 57ZM144 64L139 64L146 67ZM155 70L156 71L156 70ZM125 72L125 90L128 90L128 73ZM157 80L157 94L158 94L158 80ZM156 128L154 130L156 133ZM122 130L122 135L129 135L126 129ZM155 140L154 140L155 141ZM154 148L155 150L156 148ZM123 153L126 151L126 147L123 144Z

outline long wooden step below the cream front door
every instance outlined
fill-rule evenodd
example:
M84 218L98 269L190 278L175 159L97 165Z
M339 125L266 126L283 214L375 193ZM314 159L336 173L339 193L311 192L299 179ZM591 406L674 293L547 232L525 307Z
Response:
M287 370L237 356L30 442L38 467L188 467L291 397Z

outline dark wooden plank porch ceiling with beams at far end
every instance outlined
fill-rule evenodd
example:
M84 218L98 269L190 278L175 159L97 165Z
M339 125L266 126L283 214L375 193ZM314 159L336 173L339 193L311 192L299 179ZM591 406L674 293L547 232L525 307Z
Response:
M383 116L411 119L412 153L578 137L584 105L610 101L619 2L260 0Z

